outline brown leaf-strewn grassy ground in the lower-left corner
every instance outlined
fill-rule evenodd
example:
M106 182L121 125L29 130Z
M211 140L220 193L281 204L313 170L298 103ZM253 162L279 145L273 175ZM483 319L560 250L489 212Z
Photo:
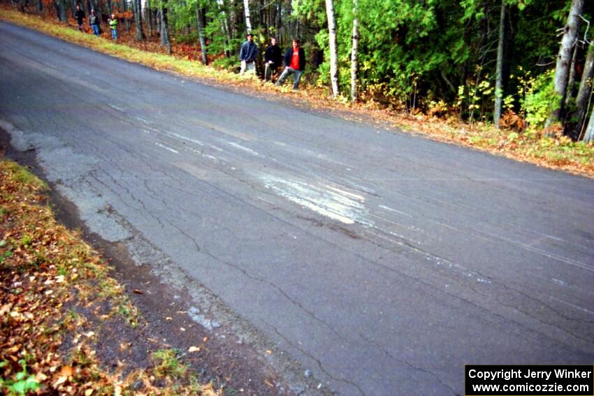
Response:
M0 161L0 392L222 395L159 343L148 367L98 357L111 325L135 332L143 319L101 256L57 223L47 189Z

